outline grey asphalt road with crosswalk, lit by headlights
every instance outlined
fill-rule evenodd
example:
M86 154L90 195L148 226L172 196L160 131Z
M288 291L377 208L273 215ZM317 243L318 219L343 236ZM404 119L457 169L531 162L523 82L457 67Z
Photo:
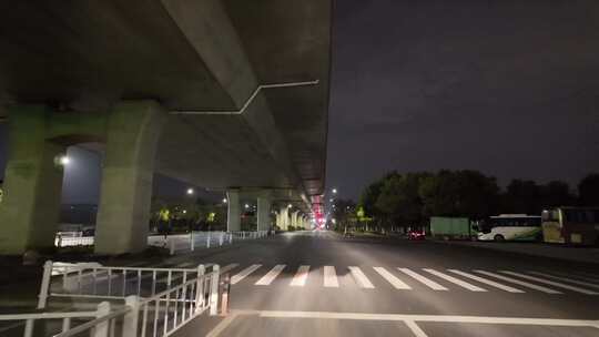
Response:
M231 314L209 336L599 336L597 265L329 232L195 262L232 279Z

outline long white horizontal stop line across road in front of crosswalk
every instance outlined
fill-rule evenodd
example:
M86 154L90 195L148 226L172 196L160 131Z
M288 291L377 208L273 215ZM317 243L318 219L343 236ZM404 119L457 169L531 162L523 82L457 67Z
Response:
M332 312L252 312L260 317L268 318L322 318L322 319L354 319L354 320L412 320L438 323L479 323L535 326L566 326L599 328L598 320L528 318L528 317L487 317L487 316L453 316L453 315L398 315L398 314L366 314L366 313L332 313Z

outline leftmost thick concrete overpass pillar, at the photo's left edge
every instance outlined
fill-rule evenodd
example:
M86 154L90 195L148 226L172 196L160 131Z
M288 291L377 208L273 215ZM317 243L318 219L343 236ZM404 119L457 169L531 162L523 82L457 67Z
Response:
M9 159L0 204L0 254L54 245L62 188L55 157L64 146L45 141L50 112L43 105L10 109Z

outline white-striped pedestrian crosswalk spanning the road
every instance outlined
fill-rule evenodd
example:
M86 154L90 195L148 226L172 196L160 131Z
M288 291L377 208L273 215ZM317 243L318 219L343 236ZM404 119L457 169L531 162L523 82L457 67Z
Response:
M599 283L570 275L564 277L537 270L483 270L429 267L385 266L263 266L236 263L224 265L221 273L231 276L231 284L254 286L323 287L328 289L354 286L365 292L390 287L396 290L435 292L505 292L510 294L541 293L549 295L599 295ZM585 280L581 280L585 279ZM246 280L246 282L245 282ZM343 280L343 282L342 282Z

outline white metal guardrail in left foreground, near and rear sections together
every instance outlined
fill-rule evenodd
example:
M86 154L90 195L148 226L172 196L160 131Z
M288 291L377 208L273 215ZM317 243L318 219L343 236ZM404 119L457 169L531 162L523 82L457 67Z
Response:
M59 276L54 278L61 279L61 285L52 293L52 274L57 273ZM144 283L143 278L149 282ZM111 293L114 280L122 286L118 294ZM128 287L129 282L136 286ZM165 286L159 292L161 282ZM111 310L111 304L102 302L95 312L0 315L0 323L13 323L1 326L0 335L21 329L23 337L32 337L37 329L35 336L53 337L166 337L206 310L210 315L217 314L219 282L219 265L211 266L206 273L204 265L196 269L166 269L47 262L39 308L45 307L49 296L121 299L124 306Z

